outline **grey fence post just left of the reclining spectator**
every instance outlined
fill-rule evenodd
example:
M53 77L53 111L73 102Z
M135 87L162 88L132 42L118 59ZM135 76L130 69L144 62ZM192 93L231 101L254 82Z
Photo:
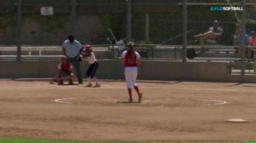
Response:
M183 56L182 61L187 61L187 0L183 0Z

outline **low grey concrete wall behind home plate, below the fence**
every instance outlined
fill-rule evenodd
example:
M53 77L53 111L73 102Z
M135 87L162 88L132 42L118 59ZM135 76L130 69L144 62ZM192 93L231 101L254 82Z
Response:
M0 61L0 78L54 77L59 61ZM89 64L82 62L83 74ZM124 79L120 60L99 60L99 79ZM181 61L141 61L139 80L178 80L199 82L256 82L256 76L228 75L227 63Z

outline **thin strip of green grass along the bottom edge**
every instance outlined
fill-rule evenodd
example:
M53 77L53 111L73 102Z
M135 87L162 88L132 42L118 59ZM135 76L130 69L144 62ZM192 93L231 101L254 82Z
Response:
M244 141L79 141L57 139L0 138L0 143L256 143Z

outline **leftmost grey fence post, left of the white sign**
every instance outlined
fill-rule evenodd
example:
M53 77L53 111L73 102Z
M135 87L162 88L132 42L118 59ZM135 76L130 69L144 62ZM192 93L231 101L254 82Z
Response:
M16 45L17 45L17 61L20 61L21 46L21 24L22 24L22 0L17 0L17 19L16 19Z

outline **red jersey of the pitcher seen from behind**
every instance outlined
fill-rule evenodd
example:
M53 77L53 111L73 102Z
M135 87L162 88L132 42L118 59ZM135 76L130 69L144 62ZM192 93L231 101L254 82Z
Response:
M135 52L135 60L132 60L131 53L127 51L123 55L124 57L124 66L138 66L138 61L140 59L140 55Z

